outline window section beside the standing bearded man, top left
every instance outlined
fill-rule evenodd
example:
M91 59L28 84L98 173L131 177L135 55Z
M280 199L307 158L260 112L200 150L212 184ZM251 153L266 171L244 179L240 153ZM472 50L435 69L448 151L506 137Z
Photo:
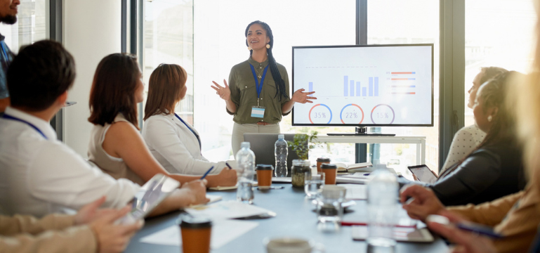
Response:
M48 37L48 13L45 0L22 0L18 6L17 22L13 25L0 24L0 33L13 53L20 46L32 44Z

